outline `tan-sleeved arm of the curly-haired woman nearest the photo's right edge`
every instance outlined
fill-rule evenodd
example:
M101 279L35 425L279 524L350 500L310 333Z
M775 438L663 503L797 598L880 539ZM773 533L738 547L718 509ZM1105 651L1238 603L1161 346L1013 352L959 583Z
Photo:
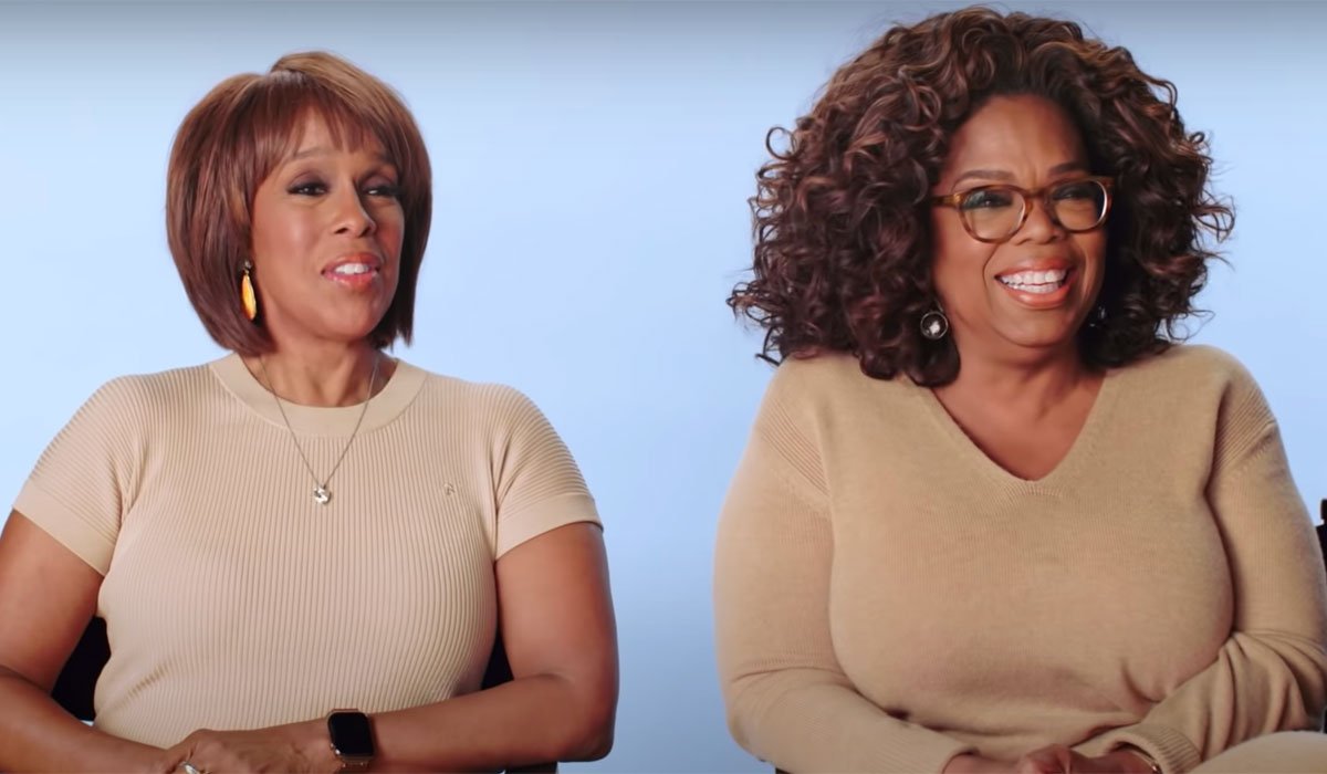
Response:
M1168 774L1254 737L1319 728L1327 706L1322 555L1275 424L1222 457L1208 498L1233 583L1230 637L1212 665L1139 722L1084 743L1099 751L1135 745Z

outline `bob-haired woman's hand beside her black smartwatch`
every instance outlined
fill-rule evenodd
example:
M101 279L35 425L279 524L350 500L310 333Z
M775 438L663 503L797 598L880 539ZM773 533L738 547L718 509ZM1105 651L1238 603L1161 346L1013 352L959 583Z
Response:
M247 732L200 729L166 750L162 759L167 763L162 770L176 774L184 762L207 774L341 770L321 721Z

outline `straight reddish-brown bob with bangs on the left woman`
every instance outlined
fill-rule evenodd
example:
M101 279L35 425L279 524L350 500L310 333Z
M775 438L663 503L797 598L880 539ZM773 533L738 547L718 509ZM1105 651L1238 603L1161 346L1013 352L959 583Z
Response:
M184 292L222 347L256 356L272 349L267 329L240 308L239 280L252 246L259 185L300 142L309 113L342 147L374 138L397 167L405 236L397 293L369 339L407 344L415 284L433 219L433 171L419 127L401 97L353 64L325 52L284 56L259 76L222 81L188 112L166 174L166 235Z

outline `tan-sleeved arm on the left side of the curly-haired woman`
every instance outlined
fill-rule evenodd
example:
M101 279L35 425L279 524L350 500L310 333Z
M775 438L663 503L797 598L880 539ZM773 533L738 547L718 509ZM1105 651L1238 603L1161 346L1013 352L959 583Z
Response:
M760 412L715 540L714 632L733 738L787 771L942 770L973 747L890 716L844 674L828 616L829 498L805 474L820 462L805 455L809 442L782 441L813 433L778 398Z

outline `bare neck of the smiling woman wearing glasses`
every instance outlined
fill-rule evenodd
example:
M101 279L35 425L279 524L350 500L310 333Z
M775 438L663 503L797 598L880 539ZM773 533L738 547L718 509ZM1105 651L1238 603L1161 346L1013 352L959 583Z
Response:
M1083 364L1076 348L1016 360L959 349L959 357L958 378L937 388L937 396L979 400L1032 417L1044 416L1100 377Z

